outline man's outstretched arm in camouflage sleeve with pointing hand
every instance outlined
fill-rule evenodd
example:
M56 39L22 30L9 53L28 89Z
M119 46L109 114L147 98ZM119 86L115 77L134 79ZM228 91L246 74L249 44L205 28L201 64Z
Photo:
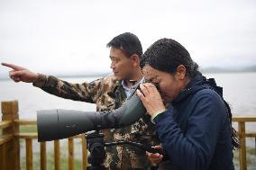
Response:
M71 84L69 82L60 80L55 76L45 76L34 73L25 67L16 66L10 63L1 63L5 67L12 68L9 71L9 76L14 82L32 83L34 86L41 88L43 91L57 95L61 98L71 99L75 101L83 101L87 103L94 103L93 97L100 87L100 81L83 84Z

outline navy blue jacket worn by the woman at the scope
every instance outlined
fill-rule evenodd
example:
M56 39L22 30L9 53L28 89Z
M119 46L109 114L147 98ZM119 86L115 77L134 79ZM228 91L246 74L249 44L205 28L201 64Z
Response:
M234 169L229 116L213 79L195 76L154 121L173 169Z

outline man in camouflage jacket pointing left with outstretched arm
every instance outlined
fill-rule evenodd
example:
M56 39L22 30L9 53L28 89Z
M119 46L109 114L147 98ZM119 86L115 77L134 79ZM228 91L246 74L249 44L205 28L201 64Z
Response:
M133 91L133 87L142 81L142 44L133 33L125 32L114 37L107 47L110 48L110 67L114 75L90 83L71 84L54 76L33 73L23 67L6 63L2 65L13 68L10 77L15 82L32 83L45 92L62 98L96 103L96 110L99 112L113 110L120 107ZM150 143L155 131L143 120L120 130L104 130L105 141L122 139ZM140 149L107 147L105 150L105 167L108 169L150 169L151 164L144 151Z

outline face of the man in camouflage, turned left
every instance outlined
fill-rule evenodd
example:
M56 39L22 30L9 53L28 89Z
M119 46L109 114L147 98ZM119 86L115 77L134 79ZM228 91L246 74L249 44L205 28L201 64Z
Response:
M111 65L114 76L118 80L128 80L133 72L133 61L126 58L122 49L110 48Z

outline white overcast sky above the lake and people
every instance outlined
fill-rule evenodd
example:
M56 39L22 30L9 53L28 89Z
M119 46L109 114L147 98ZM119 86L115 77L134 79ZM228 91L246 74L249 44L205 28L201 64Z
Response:
M105 45L125 31L143 51L178 40L200 67L256 65L255 0L0 0L0 62L35 72L111 72Z

